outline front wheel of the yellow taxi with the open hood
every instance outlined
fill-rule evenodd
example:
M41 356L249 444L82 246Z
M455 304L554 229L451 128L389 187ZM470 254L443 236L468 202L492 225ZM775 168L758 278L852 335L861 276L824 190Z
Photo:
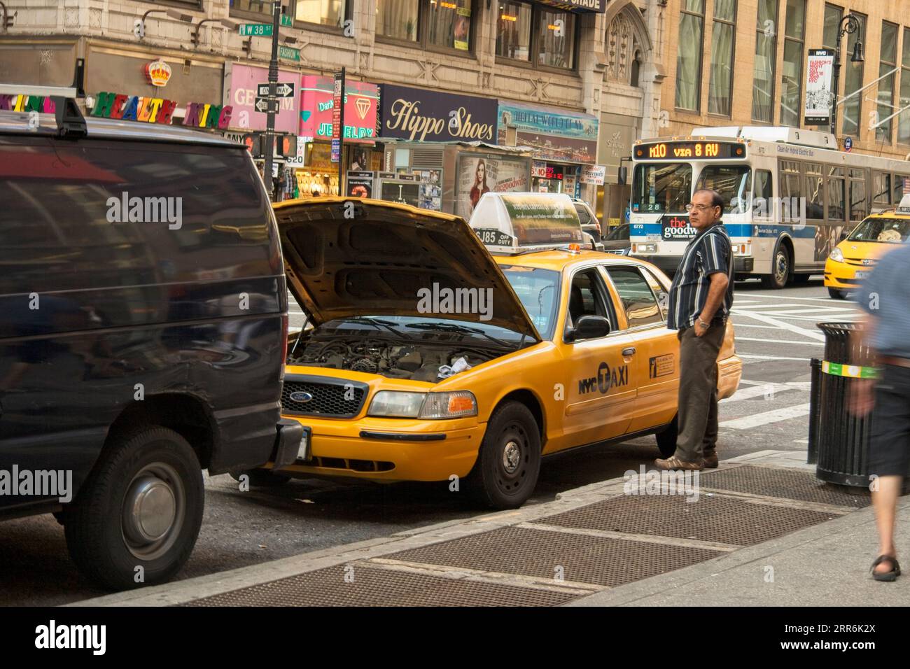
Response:
M507 402L493 412L470 473L478 500L496 509L516 509L531 497L541 472L541 433L531 411Z

